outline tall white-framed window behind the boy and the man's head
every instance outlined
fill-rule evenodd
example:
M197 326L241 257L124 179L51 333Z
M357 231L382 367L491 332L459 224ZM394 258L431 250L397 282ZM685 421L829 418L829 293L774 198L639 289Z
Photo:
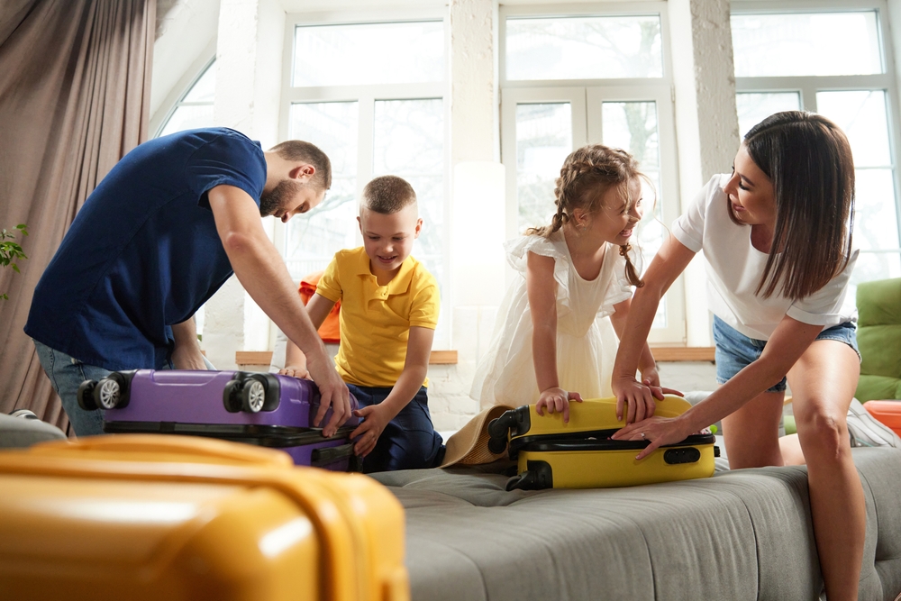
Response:
M448 274L443 12L386 23L309 23L296 16L288 31L293 52L286 69L283 138L313 142L332 160L332 189L323 204L278 227L277 243L292 277L325 269L337 250L362 243L360 193L371 178L390 174L405 178L416 191L423 231L413 254L443 292ZM438 348L450 340L446 323L442 317L435 332Z

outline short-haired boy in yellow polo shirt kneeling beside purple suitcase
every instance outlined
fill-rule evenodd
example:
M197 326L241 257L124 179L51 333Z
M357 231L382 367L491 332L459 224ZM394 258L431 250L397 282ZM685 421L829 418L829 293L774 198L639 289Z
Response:
M335 365L361 405L351 436L359 436L363 471L432 468L444 454L426 395L440 298L435 278L410 256L423 226L413 187L396 176L373 179L357 221L363 247L335 253L306 311L318 328L341 301ZM303 359L288 342L280 373L303 375Z

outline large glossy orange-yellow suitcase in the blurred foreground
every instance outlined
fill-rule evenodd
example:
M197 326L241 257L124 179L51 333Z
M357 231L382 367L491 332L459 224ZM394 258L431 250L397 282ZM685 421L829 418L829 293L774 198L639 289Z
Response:
M160 434L0 452L3 599L409 595L403 508L366 476Z

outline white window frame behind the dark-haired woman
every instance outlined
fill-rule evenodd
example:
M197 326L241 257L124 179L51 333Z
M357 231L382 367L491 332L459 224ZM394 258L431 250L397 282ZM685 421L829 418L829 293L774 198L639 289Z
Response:
M895 216L901 235L901 172L898 151L901 149L901 113L895 67L895 54L889 32L888 5L883 0L736 0L731 14L797 14L797 13L866 13L876 11L879 50L882 54L883 73L875 75L836 76L785 76L785 77L735 77L735 94L796 92L801 109L816 112L817 92L880 90L886 94L888 144L892 179L895 187ZM863 167L855 169L867 169ZM901 240L892 249L860 250L860 254L896 254L901 260Z

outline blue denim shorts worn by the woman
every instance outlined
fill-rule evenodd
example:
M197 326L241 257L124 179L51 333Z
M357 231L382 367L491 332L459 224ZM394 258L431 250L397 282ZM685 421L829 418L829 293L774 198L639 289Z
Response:
M857 327L851 322L839 323L831 328L826 328L820 332L816 340L844 342L857 353L857 357L860 359L860 351L857 348ZM767 341L745 336L716 315L714 315L714 343L716 344L716 381L720 384L725 384L739 371L760 359L763 347L767 345ZM784 392L785 389L786 378L783 377L767 392Z

